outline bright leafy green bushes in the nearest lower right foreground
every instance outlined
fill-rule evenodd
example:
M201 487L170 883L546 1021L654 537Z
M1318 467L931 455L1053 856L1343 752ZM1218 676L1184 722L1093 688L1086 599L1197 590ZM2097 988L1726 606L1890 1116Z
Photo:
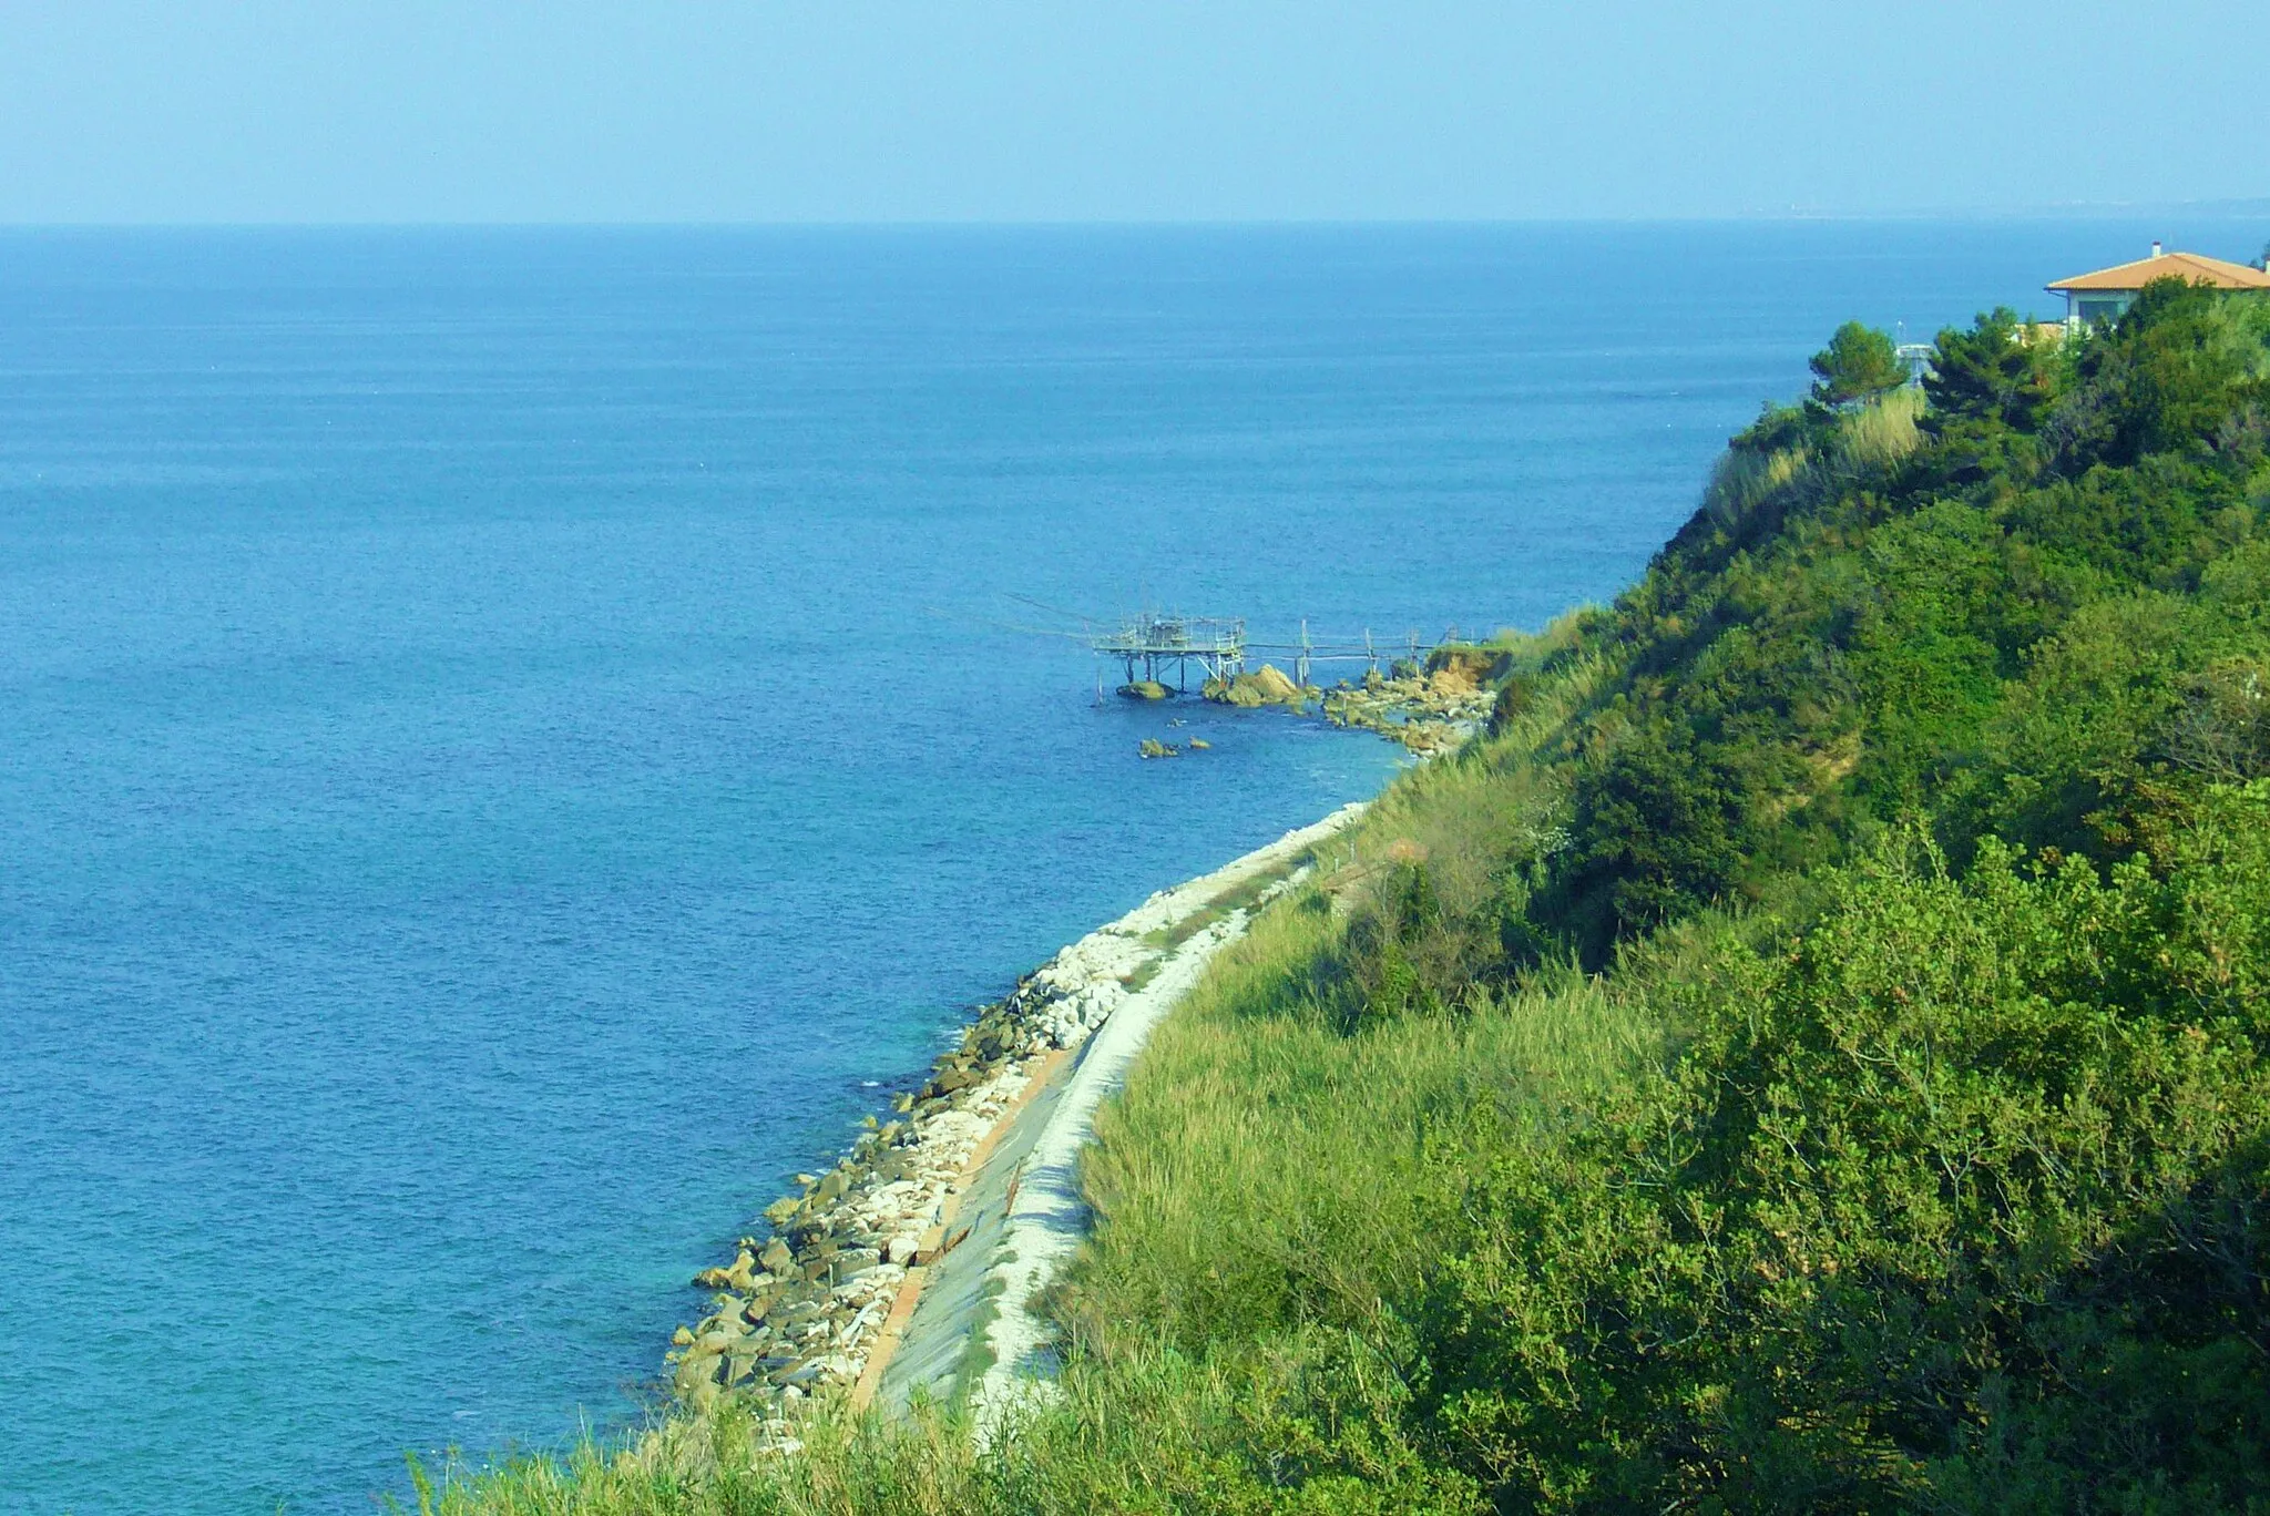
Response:
M2270 785L2109 881L1836 871L1680 987L1659 1096L1476 1185L1444 1450L1516 1507L2263 1496L2265 974Z

